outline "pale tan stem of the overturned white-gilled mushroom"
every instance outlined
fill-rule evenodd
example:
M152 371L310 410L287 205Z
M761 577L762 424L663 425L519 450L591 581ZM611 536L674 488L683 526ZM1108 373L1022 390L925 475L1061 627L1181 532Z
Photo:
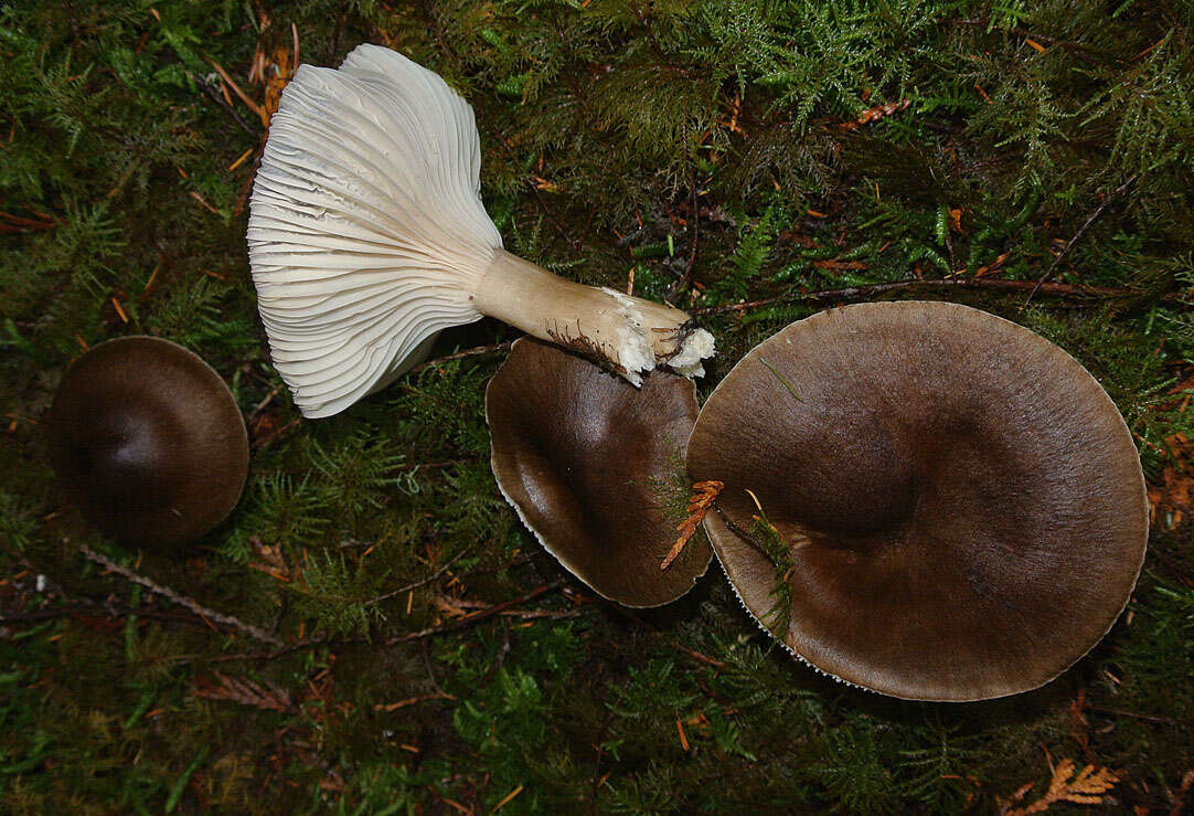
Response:
M682 363L688 373L685 358L694 357L691 366L708 356L695 348L706 342L706 332L691 330L678 308L568 281L501 249L494 250L473 306L528 335L604 361L634 385L657 362L671 368Z

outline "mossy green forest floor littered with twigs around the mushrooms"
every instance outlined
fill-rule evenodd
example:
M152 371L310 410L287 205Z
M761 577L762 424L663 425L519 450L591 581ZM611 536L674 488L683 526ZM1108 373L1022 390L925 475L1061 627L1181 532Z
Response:
M1182 0L0 6L0 810L1189 808L1192 25ZM246 200L295 63L363 42L474 106L507 249L700 315L702 399L849 302L964 302L1071 352L1153 511L1110 633L1009 699L880 697L776 648L715 565L657 611L571 578L490 472L500 349L302 419ZM140 333L209 361L250 430L240 505L184 553L94 533L48 464L66 367Z

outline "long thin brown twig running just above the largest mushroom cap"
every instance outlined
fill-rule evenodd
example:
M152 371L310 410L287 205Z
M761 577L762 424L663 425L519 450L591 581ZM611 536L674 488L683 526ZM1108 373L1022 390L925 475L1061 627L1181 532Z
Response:
M709 306L706 308L691 309L693 315L707 317L712 314L725 314L728 312L749 312L761 306L773 306L775 303L794 302L825 302L843 300L861 300L874 297L875 295L901 289L996 289L1011 292L1032 292L1038 287L1035 281L1005 281L1003 278L986 277L947 277L936 280L906 278L892 281L890 283L864 283L844 289L821 289L819 292L796 292L762 300L750 300L741 303L725 303L722 306ZM1038 292L1053 297L1135 297L1143 292L1138 289L1125 289L1119 287L1091 287L1083 283L1041 283ZM1176 300L1182 293L1167 293L1164 300Z

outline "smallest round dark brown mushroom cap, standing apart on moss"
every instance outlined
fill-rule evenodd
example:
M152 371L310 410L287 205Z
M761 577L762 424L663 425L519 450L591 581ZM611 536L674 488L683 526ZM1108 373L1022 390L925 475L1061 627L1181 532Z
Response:
M109 340L75 361L49 432L54 470L84 516L133 546L198 539L236 505L248 472L228 386L155 337Z

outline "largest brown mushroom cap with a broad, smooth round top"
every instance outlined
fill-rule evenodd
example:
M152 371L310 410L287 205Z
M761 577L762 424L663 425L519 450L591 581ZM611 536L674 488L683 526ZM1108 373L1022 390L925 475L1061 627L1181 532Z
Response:
M1147 541L1137 450L1098 382L955 303L792 324L709 397L687 461L726 484L704 523L746 608L764 619L776 585L731 527L751 530L751 490L793 546L783 643L893 697L1048 682L1110 628Z

